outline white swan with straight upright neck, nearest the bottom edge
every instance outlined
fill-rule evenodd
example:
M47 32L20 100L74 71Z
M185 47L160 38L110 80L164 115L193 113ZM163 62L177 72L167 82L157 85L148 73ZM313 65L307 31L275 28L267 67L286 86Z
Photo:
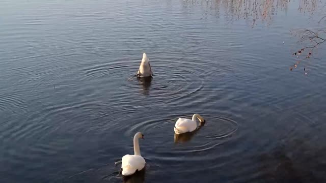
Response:
M133 137L133 150L134 155L125 155L122 157L122 175L128 176L132 175L136 170L140 171L145 167L145 160L141 156L141 151L139 149L139 138L144 139L144 135L138 132Z

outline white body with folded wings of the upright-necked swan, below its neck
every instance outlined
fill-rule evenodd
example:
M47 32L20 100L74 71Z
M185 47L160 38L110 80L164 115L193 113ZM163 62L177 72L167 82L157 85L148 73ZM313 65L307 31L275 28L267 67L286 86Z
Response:
M142 170L145 167L145 159L137 155L125 155L122 157L122 175L133 174L136 170Z

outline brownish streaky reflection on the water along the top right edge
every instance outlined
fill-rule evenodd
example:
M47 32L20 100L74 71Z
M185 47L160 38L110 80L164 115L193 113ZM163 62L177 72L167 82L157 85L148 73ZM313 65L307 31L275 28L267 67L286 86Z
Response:
M183 0L183 8L191 12L200 6L203 18L213 16L225 17L227 22L243 19L254 27L258 24L270 25L278 11L288 11L291 0L244 0L244 1L199 1ZM324 5L318 0L300 0L298 11L314 14L318 5ZM259 22L257 24L257 22Z

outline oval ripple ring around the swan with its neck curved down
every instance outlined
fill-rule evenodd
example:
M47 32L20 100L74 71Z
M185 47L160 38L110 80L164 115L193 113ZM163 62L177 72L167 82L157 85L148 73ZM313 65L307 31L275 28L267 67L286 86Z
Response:
M194 151L211 149L225 142L224 139L231 136L238 129L237 122L232 119L220 116L202 116L205 118L205 123L192 133L176 135L173 131L178 117L192 117L187 115L146 120L127 129L126 135L132 136L132 134L141 131L145 136L159 144L183 143L181 146L173 146L174 153L193 153ZM189 145L184 145L185 142L189 142ZM170 151L170 153L173 152Z

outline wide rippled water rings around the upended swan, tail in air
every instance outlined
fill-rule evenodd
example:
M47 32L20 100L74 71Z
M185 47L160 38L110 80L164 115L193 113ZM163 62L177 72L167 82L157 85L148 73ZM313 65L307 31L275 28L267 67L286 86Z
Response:
M203 78L213 75L200 60L193 58L153 57L150 58L153 79L143 81L135 77L141 58L119 58L104 64L84 68L85 80L106 78L119 79L121 95L139 92L158 100L187 97L203 88ZM119 96L123 98L123 96Z

